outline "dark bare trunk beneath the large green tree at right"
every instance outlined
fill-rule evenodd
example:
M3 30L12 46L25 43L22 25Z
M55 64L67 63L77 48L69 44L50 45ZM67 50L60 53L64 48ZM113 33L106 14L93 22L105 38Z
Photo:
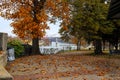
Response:
M100 39L95 40L95 54L102 54L102 43Z

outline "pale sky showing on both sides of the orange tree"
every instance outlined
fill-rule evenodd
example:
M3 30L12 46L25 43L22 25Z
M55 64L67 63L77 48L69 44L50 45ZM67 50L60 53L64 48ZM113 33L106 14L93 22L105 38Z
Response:
M6 20L2 17L0 17L0 32L8 33L9 36L15 37L16 35L13 34L12 30L13 28L10 26L10 23L12 21ZM57 22L56 24L49 24L50 30L46 30L46 36L47 37L60 37L59 27L60 23Z

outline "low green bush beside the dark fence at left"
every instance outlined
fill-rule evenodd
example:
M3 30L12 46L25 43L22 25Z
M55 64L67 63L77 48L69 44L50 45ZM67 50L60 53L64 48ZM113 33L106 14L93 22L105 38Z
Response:
M20 40L14 39L7 43L8 47L12 47L15 50L15 57L20 57L20 55L24 51L24 47L22 46L22 42Z

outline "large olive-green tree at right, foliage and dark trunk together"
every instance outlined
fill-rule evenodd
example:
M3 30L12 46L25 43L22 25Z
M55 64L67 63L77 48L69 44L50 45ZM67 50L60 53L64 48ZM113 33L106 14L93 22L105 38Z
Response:
M106 20L108 4L103 0L74 0L72 5L71 26L74 37L82 35L88 41L94 41L95 54L102 53L102 35L113 31L114 25ZM76 27L77 26L77 27ZM78 38L79 39L79 38Z

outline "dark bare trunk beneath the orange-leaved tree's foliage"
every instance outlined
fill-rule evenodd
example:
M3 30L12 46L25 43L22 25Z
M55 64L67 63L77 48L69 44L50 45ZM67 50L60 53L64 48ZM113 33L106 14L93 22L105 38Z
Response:
M38 38L32 39L32 54L40 54L39 39Z

